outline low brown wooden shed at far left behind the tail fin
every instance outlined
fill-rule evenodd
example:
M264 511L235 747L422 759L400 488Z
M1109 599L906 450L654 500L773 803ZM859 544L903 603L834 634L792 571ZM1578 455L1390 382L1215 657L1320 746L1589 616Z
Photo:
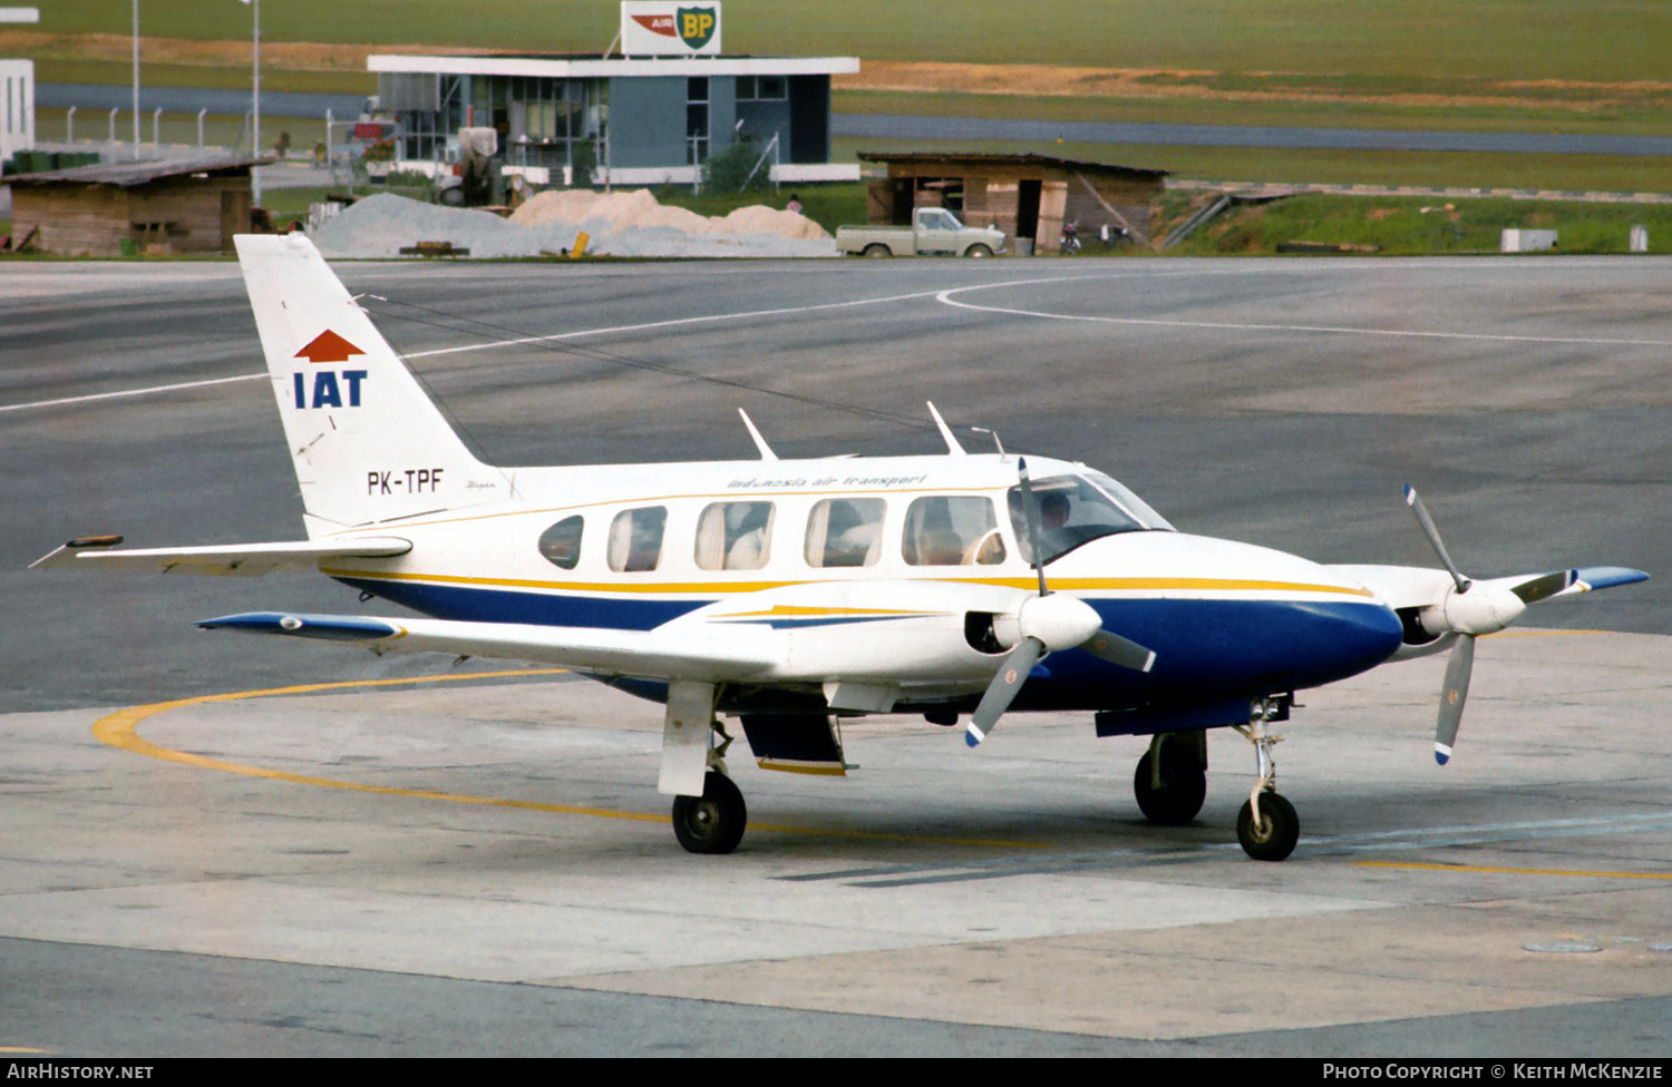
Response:
M40 252L115 257L134 252L232 252L249 232L249 170L268 159L104 162L7 177L12 234L38 229Z

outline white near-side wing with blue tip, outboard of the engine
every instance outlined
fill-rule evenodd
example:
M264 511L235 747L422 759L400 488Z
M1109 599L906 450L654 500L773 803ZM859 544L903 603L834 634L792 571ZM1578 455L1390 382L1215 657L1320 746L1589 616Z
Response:
M204 629L358 645L375 653L455 653L565 665L602 675L660 680L747 678L782 661L784 638L732 626L701 641L665 629L625 631L533 623L466 623L370 614L247 611L202 619Z

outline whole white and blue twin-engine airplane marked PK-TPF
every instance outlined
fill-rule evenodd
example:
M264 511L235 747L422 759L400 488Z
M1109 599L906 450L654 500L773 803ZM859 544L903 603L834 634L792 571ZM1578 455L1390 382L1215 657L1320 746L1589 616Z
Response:
M1175 531L1083 464L970 454L517 468L483 464L304 237L237 254L301 483L306 541L115 549L72 539L37 568L263 574L316 568L426 618L254 611L201 623L390 651L570 666L665 703L659 788L674 833L727 853L742 795L717 715L762 766L844 773L841 718L1083 710L1097 735L1147 735L1139 808L1192 820L1209 728L1254 746L1237 817L1282 860L1299 820L1269 731L1294 691L1450 648L1436 758L1468 693L1475 638L1528 604L1642 581L1593 566L1470 581L1406 501L1445 569L1321 566ZM716 736L719 740L716 740Z

